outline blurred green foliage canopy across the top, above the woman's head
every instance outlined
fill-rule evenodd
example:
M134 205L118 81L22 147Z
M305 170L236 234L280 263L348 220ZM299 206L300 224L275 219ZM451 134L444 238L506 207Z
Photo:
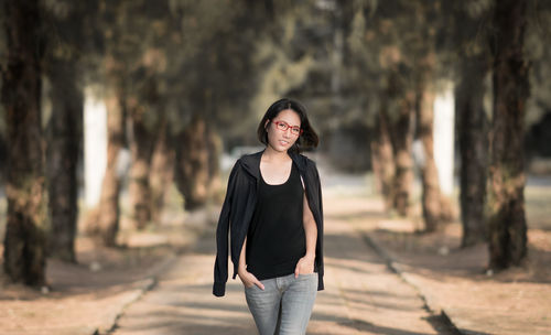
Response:
M548 2L532 0L529 8L528 123L551 106ZM119 78L151 125L164 110L177 132L192 115L203 114L230 142L248 142L255 141L259 115L285 95L306 102L322 130L372 125L383 94L401 95L391 82L414 87L428 55L435 56L437 79L454 77L460 57L488 52L494 0L43 0L42 6L46 69L51 60L78 60L83 86L104 85L108 74ZM0 66L4 51L0 47Z

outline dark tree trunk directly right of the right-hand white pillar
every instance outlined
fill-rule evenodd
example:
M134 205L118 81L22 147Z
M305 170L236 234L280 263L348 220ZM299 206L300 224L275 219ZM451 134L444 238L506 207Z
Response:
M484 108L486 77L490 71L487 46L493 1L455 3L455 109L461 156L460 206L463 225L462 247L486 239L484 207L488 164L488 119Z

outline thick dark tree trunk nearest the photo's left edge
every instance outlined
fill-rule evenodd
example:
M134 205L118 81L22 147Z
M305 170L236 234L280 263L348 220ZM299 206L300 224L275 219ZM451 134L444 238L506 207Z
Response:
M8 128L3 266L12 281L43 285L47 204L40 104L41 15L37 1L2 4L8 54L1 95Z

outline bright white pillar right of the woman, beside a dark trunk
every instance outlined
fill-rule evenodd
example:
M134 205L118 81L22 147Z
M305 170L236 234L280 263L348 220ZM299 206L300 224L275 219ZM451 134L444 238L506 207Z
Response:
M447 83L434 99L434 161L439 170L440 190L450 196L454 185L454 87Z

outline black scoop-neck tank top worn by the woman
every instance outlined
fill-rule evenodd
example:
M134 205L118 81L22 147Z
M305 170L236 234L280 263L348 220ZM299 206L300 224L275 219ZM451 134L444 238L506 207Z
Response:
M258 202L247 234L247 271L259 280L288 275L306 253L301 176L292 164L285 183L260 176Z

